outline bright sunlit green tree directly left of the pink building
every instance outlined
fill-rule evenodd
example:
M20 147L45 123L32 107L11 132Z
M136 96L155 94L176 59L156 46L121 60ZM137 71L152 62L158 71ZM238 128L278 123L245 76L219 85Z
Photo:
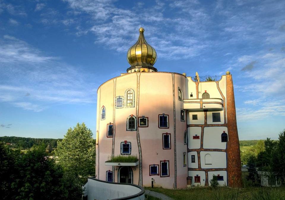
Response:
M92 132L84 123L69 128L64 139L58 141L55 155L65 171L87 177L95 174L96 144Z

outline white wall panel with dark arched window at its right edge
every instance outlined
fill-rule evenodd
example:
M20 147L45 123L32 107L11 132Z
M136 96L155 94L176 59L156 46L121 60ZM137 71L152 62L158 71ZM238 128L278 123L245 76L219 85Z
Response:
M221 142L221 135L224 131L228 133L227 127L205 127L203 136L203 148L226 149L227 143Z

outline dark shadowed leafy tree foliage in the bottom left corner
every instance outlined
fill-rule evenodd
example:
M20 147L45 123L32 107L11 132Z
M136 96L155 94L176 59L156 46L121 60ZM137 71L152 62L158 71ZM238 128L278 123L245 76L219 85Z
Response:
M21 153L0 143L0 199L81 199L76 178L47 156L44 145Z

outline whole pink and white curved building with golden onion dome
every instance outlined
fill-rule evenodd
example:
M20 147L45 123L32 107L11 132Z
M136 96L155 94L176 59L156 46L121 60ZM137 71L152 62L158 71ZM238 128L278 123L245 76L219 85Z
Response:
M127 73L98 88L96 178L186 188L241 186L232 75L187 77L158 72L155 49L140 28ZM137 161L112 161L118 156Z

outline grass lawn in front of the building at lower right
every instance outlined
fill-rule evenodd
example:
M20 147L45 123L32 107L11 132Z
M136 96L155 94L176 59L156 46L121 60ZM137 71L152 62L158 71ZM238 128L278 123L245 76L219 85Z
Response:
M164 188L145 188L151 191L163 193L173 199L191 200L284 200L285 188L267 188L254 186L246 180L247 173L243 173L243 187L232 189L228 187L195 187L180 190Z

